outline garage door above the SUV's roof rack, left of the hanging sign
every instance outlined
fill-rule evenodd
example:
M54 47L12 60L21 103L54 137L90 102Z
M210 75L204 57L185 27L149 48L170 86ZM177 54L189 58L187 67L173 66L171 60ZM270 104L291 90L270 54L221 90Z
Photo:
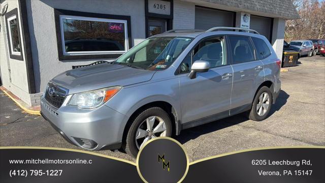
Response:
M209 29L215 26L234 26L235 13L209 8L195 8L195 28Z

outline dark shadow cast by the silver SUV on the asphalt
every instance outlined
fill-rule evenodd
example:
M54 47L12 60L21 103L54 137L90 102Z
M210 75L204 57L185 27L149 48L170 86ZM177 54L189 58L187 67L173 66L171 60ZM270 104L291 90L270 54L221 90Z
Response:
M274 112L280 110L281 107L287 102L288 98L289 95L283 90L281 90L276 100L276 103L272 105L269 116L271 116ZM178 140L180 143L183 144L189 140L196 139L201 135L208 134L227 127L231 127L233 125L243 123L247 120L249 119L244 115L244 113L241 113L224 119L216 120L205 125L183 130L181 131L181 134L179 136L174 136L173 138L175 138L176 140Z

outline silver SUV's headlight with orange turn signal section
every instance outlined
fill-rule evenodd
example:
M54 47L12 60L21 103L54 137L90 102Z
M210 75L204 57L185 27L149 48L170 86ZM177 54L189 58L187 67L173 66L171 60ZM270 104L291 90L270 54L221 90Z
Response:
M120 89L122 89L121 86L113 86L74 94L68 105L75 105L85 109L93 109L110 100L115 94L118 93Z

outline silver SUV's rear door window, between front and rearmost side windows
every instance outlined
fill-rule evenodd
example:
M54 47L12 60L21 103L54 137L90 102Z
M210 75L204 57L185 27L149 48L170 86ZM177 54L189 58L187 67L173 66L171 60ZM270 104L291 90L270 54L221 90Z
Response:
M255 60L254 49L249 37L229 36L230 49L232 51L233 64L250 62Z

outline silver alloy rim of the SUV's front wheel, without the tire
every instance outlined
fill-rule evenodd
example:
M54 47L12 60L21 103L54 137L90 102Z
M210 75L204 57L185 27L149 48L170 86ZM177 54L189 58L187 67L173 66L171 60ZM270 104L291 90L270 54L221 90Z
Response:
M158 116L150 116L142 121L136 132L136 145L140 149L147 141L156 137L166 137L165 121Z

